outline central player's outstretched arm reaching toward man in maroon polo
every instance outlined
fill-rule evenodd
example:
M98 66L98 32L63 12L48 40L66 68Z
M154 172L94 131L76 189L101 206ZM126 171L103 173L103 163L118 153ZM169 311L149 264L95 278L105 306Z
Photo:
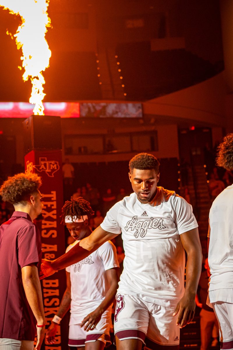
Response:
M86 258L94 252L107 240L116 237L114 233L103 230L100 226L97 227L90 236L83 238L70 251L61 255L55 260L42 259L40 279L52 275L54 272L61 270L67 266L73 265L76 262Z

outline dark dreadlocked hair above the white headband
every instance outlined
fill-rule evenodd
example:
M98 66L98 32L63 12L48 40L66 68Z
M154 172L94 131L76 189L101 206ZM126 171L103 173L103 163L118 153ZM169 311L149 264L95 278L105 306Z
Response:
M75 199L71 197L71 200L66 201L61 209L61 223L65 225L66 216L70 216L71 220L73 220L75 217L80 219L83 215L87 215L88 219L94 215L90 203L82 197Z

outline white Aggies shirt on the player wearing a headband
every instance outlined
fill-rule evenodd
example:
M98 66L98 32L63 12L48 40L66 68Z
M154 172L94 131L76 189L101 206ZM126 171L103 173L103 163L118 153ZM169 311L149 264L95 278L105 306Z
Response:
M70 244L66 252L77 243ZM87 258L66 267L71 279L71 317L86 316L101 304L110 287L105 271L114 267L119 264L116 247L111 241L105 242Z

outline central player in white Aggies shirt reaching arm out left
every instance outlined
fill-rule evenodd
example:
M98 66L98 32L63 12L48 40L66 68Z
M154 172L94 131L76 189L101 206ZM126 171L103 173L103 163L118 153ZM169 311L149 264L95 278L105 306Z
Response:
M117 350L140 350L145 343L147 349L176 350L179 328L191 322L195 311L202 263L198 225L190 204L174 191L157 187L159 162L153 155L140 153L129 167L134 193L116 203L79 246L44 261L43 276L83 259L122 232L125 259L114 324Z

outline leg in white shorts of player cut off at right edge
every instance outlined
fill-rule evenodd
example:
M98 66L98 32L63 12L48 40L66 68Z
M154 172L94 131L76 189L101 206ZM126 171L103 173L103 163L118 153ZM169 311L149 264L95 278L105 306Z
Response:
M221 349L233 349L233 304L222 301L212 303L220 330Z

